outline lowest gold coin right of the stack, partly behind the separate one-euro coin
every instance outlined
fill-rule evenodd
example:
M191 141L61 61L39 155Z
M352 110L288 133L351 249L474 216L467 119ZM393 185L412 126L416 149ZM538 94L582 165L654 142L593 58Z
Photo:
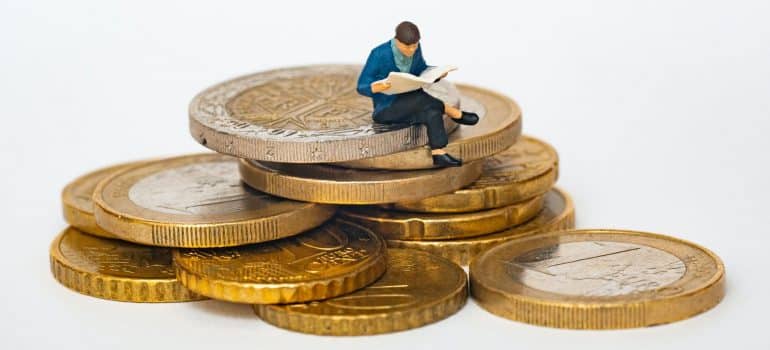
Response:
M424 250L442 256L459 265L468 265L480 252L514 238L530 236L541 232L565 230L575 227L575 207L572 199L561 189L554 188L545 194L543 210L532 220L507 230L471 238L405 241L388 240L392 248Z

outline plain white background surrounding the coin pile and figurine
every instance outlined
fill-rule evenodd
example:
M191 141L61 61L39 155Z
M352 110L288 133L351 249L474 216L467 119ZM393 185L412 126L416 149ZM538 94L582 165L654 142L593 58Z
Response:
M0 4L0 348L768 349L770 2L13 1ZM48 270L59 191L93 168L203 151L187 104L263 69L362 63L402 19L429 64L520 102L561 155L580 227L700 243L727 266L715 309L666 326L570 331L469 301L417 330L292 333L220 302L71 292Z

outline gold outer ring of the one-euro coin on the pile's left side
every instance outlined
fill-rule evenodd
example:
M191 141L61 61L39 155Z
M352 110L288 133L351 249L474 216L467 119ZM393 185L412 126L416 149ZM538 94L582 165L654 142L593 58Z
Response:
M248 195L244 192L248 200L264 200L265 203L257 205L261 208L232 210L225 214L175 215L143 207L129 196L132 186L142 179L169 169L206 162L233 162L233 171L237 177L236 158L216 153L161 159L108 176L94 190L94 216L97 224L121 239L140 244L181 248L227 247L298 234L320 225L336 212L334 206L288 201L267 194ZM255 199L257 197L260 199ZM215 199L209 201L216 202ZM278 202L275 205L292 208L263 215L262 210L273 205L270 201Z

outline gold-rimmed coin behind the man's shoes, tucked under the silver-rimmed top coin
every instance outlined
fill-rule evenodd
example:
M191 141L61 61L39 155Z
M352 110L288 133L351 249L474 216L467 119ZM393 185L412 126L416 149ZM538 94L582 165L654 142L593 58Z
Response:
M510 98L496 92L470 85L458 85L463 110L476 112L479 122L460 126L449 135L446 150L471 162L487 158L510 147L521 134L521 109ZM418 147L398 153L344 162L357 169L410 170L433 167L428 147Z

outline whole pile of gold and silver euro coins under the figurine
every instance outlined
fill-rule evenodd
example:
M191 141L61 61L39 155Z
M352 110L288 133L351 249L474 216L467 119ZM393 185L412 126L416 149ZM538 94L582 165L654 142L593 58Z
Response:
M464 165L436 169L422 126L373 124L359 70L279 69L200 93L190 131L218 153L67 185L54 277L110 300L250 304L321 335L420 327L459 311L469 290L494 314L567 328L672 322L721 300L724 268L705 248L569 231L557 153L521 135L510 98L426 88L480 116L459 127L446 117L447 151Z

